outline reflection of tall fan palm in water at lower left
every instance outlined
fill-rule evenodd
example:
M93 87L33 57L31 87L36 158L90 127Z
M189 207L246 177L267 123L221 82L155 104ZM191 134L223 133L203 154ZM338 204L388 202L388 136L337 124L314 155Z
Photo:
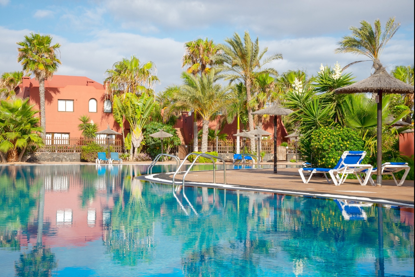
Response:
M42 244L44 204L45 185L42 183L37 211L36 245L32 248L32 251L21 254L20 259L15 262L16 276L49 277L52 270L58 266L51 248Z

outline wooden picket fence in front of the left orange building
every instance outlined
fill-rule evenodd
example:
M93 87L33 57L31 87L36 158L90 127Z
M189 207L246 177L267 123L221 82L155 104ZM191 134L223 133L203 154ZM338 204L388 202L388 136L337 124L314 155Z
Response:
M108 143L112 151L122 153L123 144L120 138L45 138L44 147L39 148L37 152L81 152L82 146L88 145L91 142L98 143L107 147Z

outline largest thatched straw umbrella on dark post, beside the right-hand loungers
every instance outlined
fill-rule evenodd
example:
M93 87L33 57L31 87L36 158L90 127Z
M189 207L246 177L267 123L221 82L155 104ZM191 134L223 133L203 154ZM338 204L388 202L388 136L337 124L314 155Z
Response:
M376 185L382 185L382 94L398 93L413 94L414 86L406 84L395 77L392 77L386 69L378 63L373 64L375 73L369 78L356 82L346 87L335 90L336 94L340 93L359 93L359 92L377 92L376 103L378 103L378 122L377 122L377 176Z

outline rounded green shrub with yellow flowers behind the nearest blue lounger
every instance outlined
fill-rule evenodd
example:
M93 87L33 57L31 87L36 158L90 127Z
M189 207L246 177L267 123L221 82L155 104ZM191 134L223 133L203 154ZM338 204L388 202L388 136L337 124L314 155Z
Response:
M313 167L333 168L344 151L363 151L365 143L349 128L322 127L311 133L310 154Z

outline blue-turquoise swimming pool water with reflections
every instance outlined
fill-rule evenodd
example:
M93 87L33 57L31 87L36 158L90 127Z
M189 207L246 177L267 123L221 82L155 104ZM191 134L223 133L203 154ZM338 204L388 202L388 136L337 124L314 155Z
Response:
M0 276L414 276L413 208L132 178L144 173L0 166Z

